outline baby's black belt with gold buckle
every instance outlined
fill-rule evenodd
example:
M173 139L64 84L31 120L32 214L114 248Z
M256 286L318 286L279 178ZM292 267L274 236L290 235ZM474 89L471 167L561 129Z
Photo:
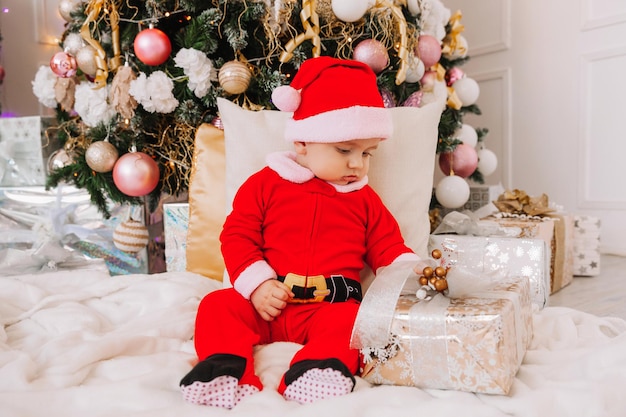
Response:
M316 303L328 301L339 303L353 298L361 301L363 294L361 284L343 275L323 275L304 276L297 274L287 274L278 276L280 282L284 282L295 294L291 300L293 303Z

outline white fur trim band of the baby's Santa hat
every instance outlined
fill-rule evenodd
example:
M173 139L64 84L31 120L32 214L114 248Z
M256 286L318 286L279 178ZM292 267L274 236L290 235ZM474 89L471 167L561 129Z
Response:
M389 139L393 121L384 107L353 106L301 120L289 119L285 139L290 142L335 143L355 139Z

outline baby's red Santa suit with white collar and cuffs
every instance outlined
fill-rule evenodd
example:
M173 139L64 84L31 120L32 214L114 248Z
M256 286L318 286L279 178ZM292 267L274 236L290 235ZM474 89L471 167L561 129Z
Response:
M360 300L360 288L353 287L360 271L365 264L376 271L392 262L419 260L367 177L335 185L315 178L294 159L292 152L270 155L268 166L239 189L220 236L233 288L208 294L196 319L199 359L218 354L244 358L245 370L236 377L259 389L253 347L276 341L303 345L292 365L337 359L355 374L358 351L349 345ZM313 276L356 285L338 291L339 298L334 284L329 285L323 301L288 304L273 321L263 320L250 295L265 280L289 274L303 277L303 287L309 286L306 277ZM279 392L285 383L283 379Z

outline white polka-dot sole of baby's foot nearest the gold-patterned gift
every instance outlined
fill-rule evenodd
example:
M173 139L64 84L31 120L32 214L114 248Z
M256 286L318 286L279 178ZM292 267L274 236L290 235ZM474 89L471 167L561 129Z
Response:
M329 397L339 397L352 392L354 381L333 368L309 369L290 383L283 397L300 404L313 403Z

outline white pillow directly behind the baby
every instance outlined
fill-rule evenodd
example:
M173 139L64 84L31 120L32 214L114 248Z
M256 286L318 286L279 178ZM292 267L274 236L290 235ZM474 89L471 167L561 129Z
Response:
M369 183L395 216L407 246L426 257L438 126L444 97L424 107L395 107L393 136L382 142L372 158ZM249 111L218 98L226 152L226 210L239 186L265 166L265 156L292 150L284 139L291 113Z

